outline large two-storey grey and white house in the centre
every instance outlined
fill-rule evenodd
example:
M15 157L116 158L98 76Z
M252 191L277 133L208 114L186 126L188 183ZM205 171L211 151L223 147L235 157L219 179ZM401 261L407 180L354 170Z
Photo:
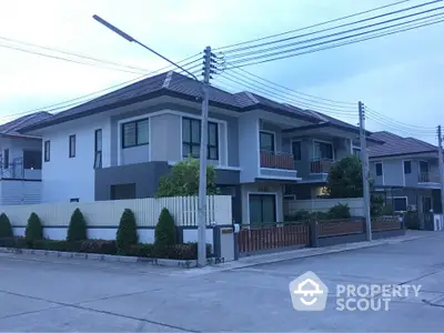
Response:
M153 196L171 165L199 158L201 94L201 83L168 72L22 129L43 138L42 202ZM208 161L239 222L282 221L284 185L312 198L357 134L320 113L210 89Z

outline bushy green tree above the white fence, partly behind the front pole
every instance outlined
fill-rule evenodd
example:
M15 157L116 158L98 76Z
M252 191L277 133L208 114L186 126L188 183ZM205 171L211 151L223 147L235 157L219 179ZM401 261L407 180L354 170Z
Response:
M206 193L218 194L214 184L215 169L206 167ZM199 193L199 160L189 158L172 167L171 173L159 181L158 198L162 196L190 196Z

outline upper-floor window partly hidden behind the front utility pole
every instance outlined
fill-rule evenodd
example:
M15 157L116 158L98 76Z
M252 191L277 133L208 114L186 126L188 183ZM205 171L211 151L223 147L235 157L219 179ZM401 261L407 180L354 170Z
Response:
M186 124L186 122L189 122ZM192 129L193 129L193 123L198 123L198 128L199 128L199 135L198 135L198 141L199 142L194 142L193 141L193 135L192 135ZM202 123L200 119L195 119L195 118L189 118L189 117L182 117L182 124L181 124L181 131L182 131L182 158L188 159L190 155L193 159L199 159L200 158L200 148L201 148L201 133L202 133ZM183 128L188 127L189 132L190 132L190 139L189 141L185 140L184 138L184 131ZM210 132L211 129L214 129L214 133L215 133L215 144L211 144L210 143ZM218 161L220 158L220 152L219 152L219 123L214 122L214 121L209 121L208 122L208 140L206 140L206 159L211 160L211 161ZM188 151L190 152L189 154L185 154L185 147L188 147ZM193 155L193 148L199 148L199 157L198 155ZM215 157L211 157L211 149L215 149Z

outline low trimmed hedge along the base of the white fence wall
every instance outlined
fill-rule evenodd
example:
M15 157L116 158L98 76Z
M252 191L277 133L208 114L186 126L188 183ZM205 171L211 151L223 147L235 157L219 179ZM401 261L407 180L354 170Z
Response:
M198 258L198 243L175 244L157 248L154 244L133 244L125 253L119 253L115 241L85 240L78 242L36 240L31 244L24 238L0 238L0 246L13 249L36 249L61 252L80 252L98 254L122 254L130 256L195 260ZM206 244L206 256L211 256L211 244Z

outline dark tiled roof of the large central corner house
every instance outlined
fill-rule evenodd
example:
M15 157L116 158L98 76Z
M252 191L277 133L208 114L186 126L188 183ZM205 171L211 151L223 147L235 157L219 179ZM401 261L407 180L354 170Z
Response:
M282 104L255 93L230 93L215 87L210 87L209 93L210 104L226 108L236 112L262 108L280 114L304 119L313 124L324 122L317 114L313 114L313 112L307 112L306 110L293 105ZM49 127L110 109L129 105L159 95L171 95L196 101L202 98L202 84L176 72L170 71L161 73L107 93L81 105L59 112L38 124L27 125L22 131L24 132ZM341 122L334 118L329 118L329 122L340 122L342 127L350 129L354 128L353 125Z

